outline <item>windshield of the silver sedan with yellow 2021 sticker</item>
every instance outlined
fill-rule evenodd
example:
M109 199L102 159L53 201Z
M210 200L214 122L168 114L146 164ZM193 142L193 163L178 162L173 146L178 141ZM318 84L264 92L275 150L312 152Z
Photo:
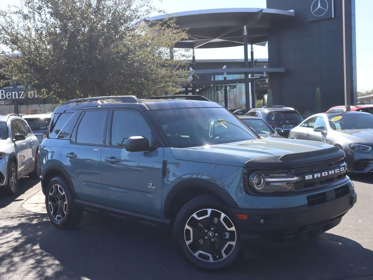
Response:
M333 130L373 128L373 115L364 113L332 115L329 121Z

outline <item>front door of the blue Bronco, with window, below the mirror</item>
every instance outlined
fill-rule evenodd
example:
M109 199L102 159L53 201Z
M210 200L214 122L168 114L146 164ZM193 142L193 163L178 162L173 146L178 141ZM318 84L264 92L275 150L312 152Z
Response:
M135 110L115 110L109 115L107 128L108 146L101 154L106 205L160 217L163 148L152 152L125 149L131 136L144 136L151 146L158 146L146 119Z

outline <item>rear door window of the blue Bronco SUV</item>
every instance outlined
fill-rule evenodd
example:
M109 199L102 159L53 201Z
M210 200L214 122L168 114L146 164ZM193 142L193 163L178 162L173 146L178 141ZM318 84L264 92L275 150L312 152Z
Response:
M85 144L103 144L103 126L107 111L87 111L79 123L76 142ZM122 120L123 122L123 120Z

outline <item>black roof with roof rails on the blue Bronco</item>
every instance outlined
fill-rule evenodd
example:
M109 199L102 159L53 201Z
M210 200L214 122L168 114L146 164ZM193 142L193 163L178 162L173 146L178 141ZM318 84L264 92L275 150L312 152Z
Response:
M128 108L137 109L139 111L204 107L223 108L222 105L216 102L191 100L191 96L186 96L185 99L182 99L183 96L178 96L178 98L179 99L138 99L135 96L91 97L69 100L65 102L64 105L57 106L54 113L75 112L82 109L99 108Z

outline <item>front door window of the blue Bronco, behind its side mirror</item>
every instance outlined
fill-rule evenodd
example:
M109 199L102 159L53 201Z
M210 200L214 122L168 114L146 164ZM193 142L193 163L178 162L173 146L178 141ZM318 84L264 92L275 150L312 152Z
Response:
M144 136L152 145L151 130L141 113L135 111L114 111L111 130L111 145L125 146L131 136Z

